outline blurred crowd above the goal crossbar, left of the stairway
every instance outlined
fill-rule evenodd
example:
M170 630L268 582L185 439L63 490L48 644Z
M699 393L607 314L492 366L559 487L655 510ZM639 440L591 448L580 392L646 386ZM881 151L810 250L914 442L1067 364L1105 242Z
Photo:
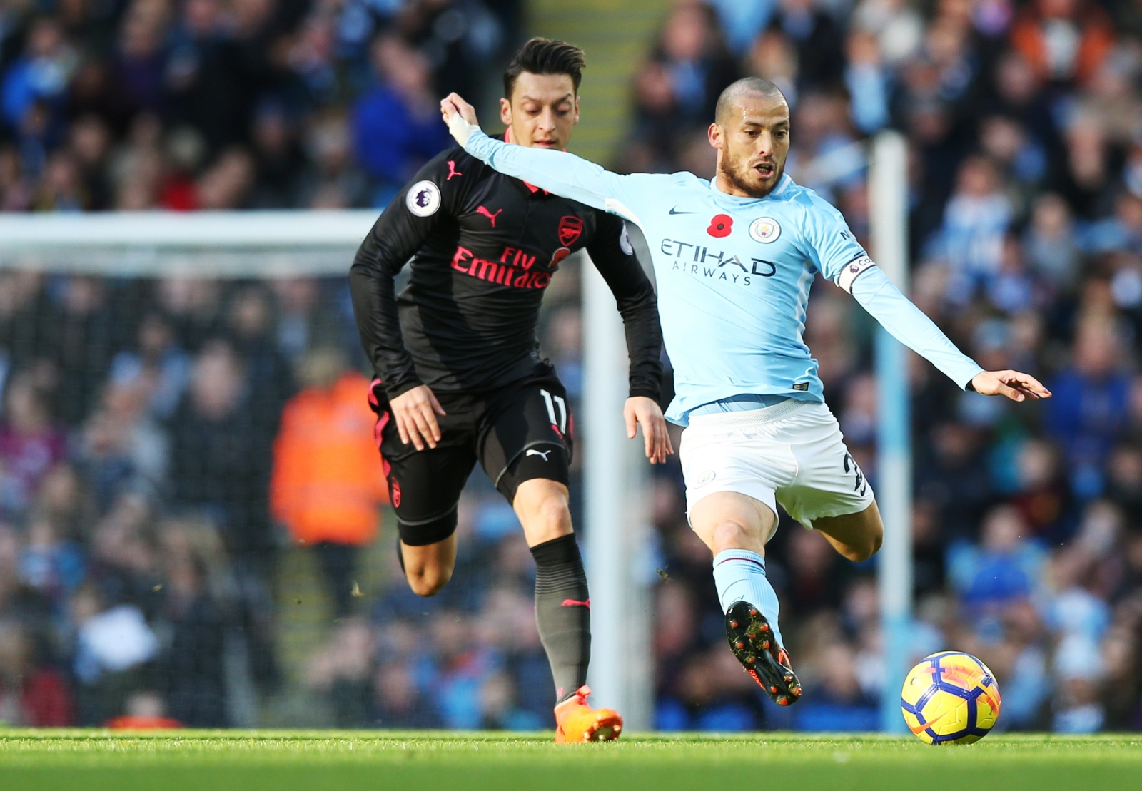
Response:
M0 211L384 205L520 5L3 0Z

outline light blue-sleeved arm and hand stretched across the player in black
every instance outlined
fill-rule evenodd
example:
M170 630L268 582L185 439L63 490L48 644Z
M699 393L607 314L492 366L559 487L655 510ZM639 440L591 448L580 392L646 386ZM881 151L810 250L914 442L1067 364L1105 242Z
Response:
M622 211L626 177L565 151L529 148L492 139L481 131L475 108L458 94L449 94L441 99L440 112L456 142L501 173L534 184L561 197L635 219L629 211Z

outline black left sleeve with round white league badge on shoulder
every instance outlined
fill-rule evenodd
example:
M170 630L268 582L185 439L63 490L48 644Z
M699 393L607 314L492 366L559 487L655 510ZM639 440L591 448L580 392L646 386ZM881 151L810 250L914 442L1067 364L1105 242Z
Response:
M349 268L361 344L389 398L421 384L401 336L393 279L463 201L460 185L467 181L449 184L448 178L448 161L458 155L464 156L458 150L447 151L413 176L377 219Z

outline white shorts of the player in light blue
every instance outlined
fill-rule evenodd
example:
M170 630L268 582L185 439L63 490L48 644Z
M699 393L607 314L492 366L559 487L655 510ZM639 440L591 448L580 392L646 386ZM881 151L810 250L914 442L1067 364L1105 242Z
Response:
M786 401L748 412L699 414L682 433L686 516L715 492L738 492L794 519L858 514L872 487L845 447L825 404Z

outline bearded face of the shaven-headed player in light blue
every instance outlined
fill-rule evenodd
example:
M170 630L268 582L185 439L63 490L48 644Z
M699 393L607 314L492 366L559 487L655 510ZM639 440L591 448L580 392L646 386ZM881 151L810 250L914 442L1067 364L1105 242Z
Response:
M725 124L709 128L717 169L742 197L765 197L781 180L789 155L789 105L746 94L730 108Z

